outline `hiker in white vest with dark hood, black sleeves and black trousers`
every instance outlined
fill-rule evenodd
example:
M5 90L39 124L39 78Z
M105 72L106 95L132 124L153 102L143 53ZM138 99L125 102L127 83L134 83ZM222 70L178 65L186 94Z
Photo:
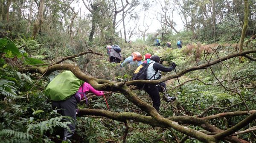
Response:
M170 72L174 70L176 64L173 62L170 67L164 67L162 64L159 64L160 57L154 55L151 57L149 61L149 65L147 68L147 79L148 80L157 80L161 78L160 71ZM145 91L150 95L153 101L153 107L159 112L159 107L161 104L159 90L155 84L146 84L144 87Z

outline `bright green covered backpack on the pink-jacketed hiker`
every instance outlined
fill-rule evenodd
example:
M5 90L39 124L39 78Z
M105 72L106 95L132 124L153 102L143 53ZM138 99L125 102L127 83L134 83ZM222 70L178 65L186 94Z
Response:
M58 74L46 87L44 94L52 101L63 101L75 94L84 81L67 70Z

